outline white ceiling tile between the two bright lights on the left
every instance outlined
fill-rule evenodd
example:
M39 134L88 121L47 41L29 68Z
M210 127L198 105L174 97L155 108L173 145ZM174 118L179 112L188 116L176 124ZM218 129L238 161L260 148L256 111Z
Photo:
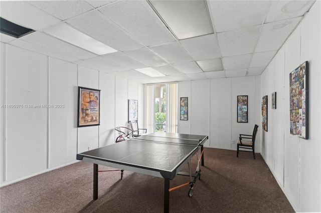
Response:
M146 65L132 59L131 57L127 56L122 52L113 52L109 54L102 55L103 58L108 60L112 60L121 64L122 66L126 67L126 69L135 69L135 68L143 68Z

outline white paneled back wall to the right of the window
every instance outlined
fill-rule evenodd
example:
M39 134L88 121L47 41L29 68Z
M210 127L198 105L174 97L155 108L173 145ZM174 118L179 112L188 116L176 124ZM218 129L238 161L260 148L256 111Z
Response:
M237 95L248 95L248 122L237 122ZM260 77L233 77L178 82L178 96L188 97L188 120L178 117L178 132L209 135L206 147L236 150L240 133L260 125ZM255 152L260 152L260 131ZM236 155L236 152L235 152Z

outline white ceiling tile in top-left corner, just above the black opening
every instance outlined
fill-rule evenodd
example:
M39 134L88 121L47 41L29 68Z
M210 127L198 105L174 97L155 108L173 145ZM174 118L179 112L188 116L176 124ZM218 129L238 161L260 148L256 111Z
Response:
M40 30L61 20L26 1L0 1L1 17L21 26Z

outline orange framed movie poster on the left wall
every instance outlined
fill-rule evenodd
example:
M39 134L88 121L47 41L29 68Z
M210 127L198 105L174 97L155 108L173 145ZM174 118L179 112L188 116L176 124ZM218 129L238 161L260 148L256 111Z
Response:
M78 86L77 126L100 124L100 90Z

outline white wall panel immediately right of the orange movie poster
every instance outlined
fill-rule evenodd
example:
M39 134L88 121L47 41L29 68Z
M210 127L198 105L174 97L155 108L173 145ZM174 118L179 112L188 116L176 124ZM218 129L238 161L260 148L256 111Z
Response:
M99 147L115 142L115 76L99 72Z

